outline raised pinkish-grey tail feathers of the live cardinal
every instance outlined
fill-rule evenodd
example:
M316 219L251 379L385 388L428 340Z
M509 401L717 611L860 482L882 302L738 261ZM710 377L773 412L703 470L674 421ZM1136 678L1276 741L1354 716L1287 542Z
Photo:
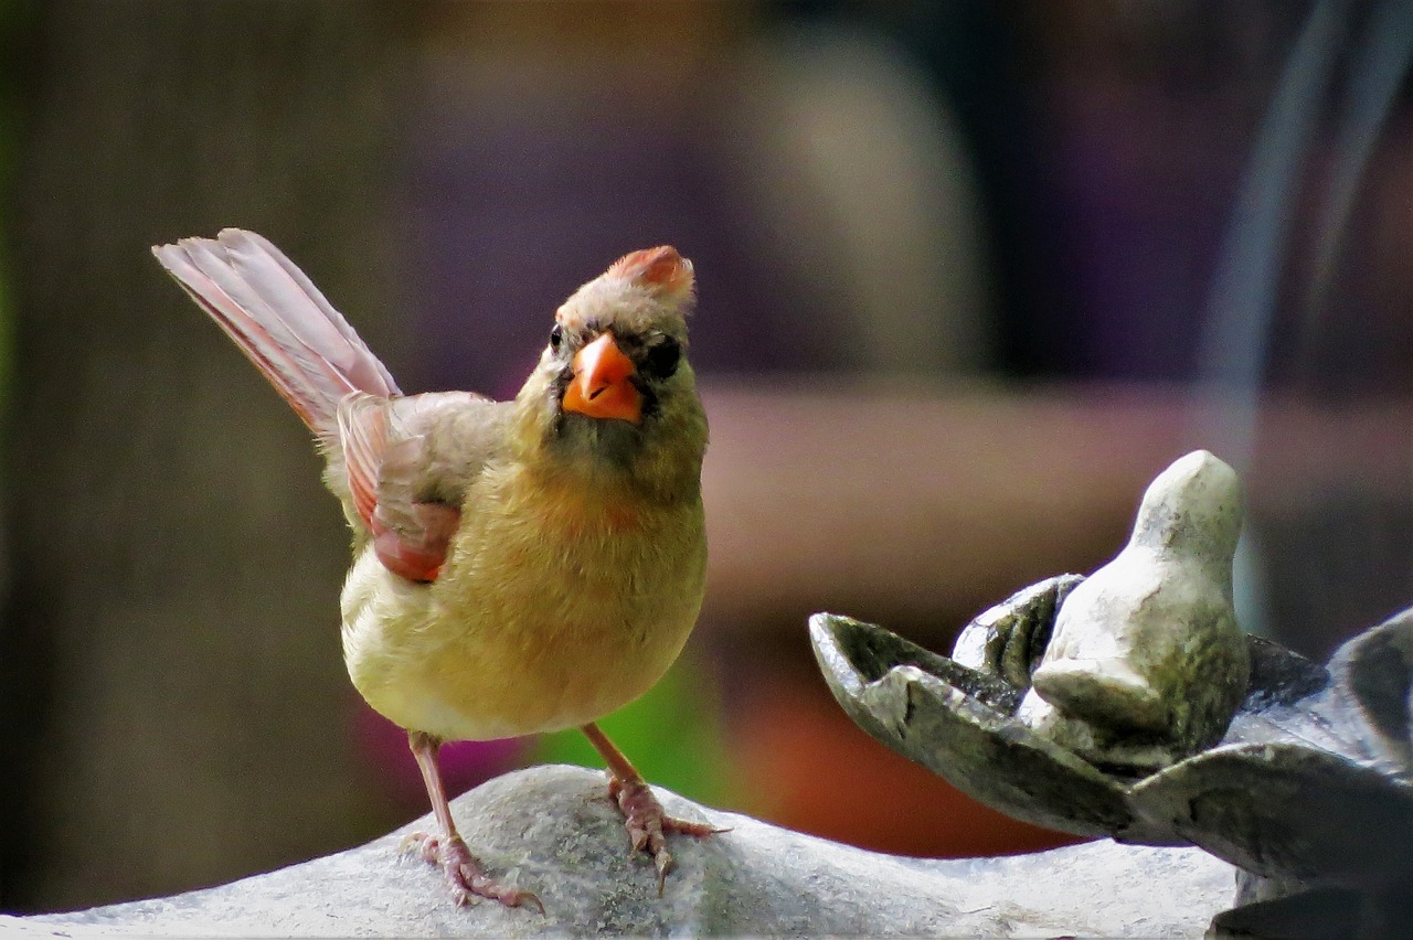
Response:
M349 392L400 394L309 278L256 233L225 229L153 254L321 440L338 433L338 402Z

